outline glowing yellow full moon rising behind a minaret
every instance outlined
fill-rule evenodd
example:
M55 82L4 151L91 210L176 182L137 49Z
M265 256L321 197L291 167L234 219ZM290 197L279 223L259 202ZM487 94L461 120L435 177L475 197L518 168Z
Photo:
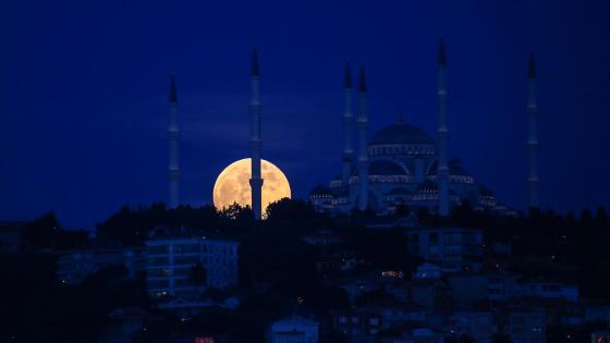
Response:
M237 203L241 206L252 206L252 191L249 188L251 167L249 158L235 161L218 175L213 184L213 206L222 209ZM286 176L273 163L260 160L263 177L263 213L269 204L282 198L290 198L290 184Z

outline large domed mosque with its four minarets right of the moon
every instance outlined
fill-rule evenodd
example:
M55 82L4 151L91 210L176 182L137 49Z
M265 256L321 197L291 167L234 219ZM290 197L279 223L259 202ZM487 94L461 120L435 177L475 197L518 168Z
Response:
M485 185L479 184L460 163L448 159L447 144L447 57L442 39L437 57L437 136L399 119L367 137L366 78L361 66L357 85L357 114L352 113L353 85L350 66L345 65L343 158L341 174L328 185L318 185L309 194L309 201L317 210L349 212L370 209L376 213L391 213L398 206L427 207L431 212L447 216L451 208L464 203L475 209L497 212L510 211ZM529 58L529 119L528 138L528 192L529 206L538 207L536 174L536 71ZM355 128L355 130L354 130ZM353 136L357 155L353 148ZM436 139L435 139L436 138Z

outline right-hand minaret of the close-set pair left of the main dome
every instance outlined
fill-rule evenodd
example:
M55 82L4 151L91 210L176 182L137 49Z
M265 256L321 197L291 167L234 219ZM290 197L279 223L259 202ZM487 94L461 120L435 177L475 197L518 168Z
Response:
M366 77L364 66L361 65L358 83L358 209L366 210L368 207L368 151L366 142L366 130L368 120L366 118Z

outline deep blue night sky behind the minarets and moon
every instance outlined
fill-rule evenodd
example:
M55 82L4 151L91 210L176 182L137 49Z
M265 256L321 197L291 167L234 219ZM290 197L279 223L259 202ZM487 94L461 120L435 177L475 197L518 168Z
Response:
M526 58L536 53L541 204L610 205L603 1L4 1L0 218L91 226L167 198L176 73L182 199L211 201L248 151L248 69L263 72L264 158L305 196L340 170L343 60L367 69L369 123L436 127L448 49L450 155L525 206Z

